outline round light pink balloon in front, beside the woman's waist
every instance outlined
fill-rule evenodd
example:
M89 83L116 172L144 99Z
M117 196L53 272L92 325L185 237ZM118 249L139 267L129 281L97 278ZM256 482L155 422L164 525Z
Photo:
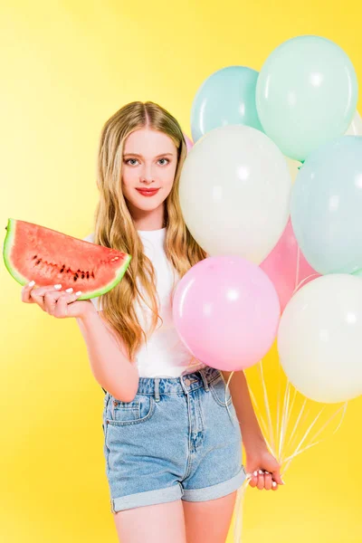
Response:
M268 276L238 256L197 262L178 281L173 319L196 359L220 370L256 364L271 348L280 318Z

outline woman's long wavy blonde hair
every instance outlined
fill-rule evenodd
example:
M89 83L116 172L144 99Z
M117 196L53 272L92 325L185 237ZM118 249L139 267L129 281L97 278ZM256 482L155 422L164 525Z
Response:
M101 296L102 319L126 348L129 361L134 363L142 340L157 328L158 315L156 275L152 262L143 251L143 243L129 213L122 192L124 141L134 130L150 128L164 132L177 148L177 166L172 189L165 205L167 259L181 279L196 262L207 256L186 227L178 198L181 169L186 158L186 141L175 117L152 101L134 101L116 111L100 133L97 163L97 186L100 201L95 211L94 242L105 247L128 252L132 258L118 285ZM176 281L171 293L173 297ZM146 296L145 296L146 295ZM138 322L135 301L141 300L151 311L149 329ZM162 321L162 319L161 319Z

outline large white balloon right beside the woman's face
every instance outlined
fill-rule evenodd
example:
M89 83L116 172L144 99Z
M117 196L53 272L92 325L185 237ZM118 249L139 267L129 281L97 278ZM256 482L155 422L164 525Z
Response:
M260 130L213 129L184 162L179 197L186 225L205 252L259 264L289 217L291 175L281 151Z

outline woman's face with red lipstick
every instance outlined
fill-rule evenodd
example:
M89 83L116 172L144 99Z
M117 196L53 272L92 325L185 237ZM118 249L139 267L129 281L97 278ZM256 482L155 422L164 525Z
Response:
M131 214L153 211L162 205L174 183L177 149L171 138L157 130L143 128L129 134L123 148L122 190ZM158 188L142 195L137 189Z

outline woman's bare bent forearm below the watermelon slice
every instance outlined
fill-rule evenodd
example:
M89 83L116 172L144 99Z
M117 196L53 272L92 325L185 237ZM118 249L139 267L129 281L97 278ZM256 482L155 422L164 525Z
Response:
M124 345L101 313L90 306L76 318L87 345L90 368L100 386L120 401L130 402L138 390L138 368L130 363Z

